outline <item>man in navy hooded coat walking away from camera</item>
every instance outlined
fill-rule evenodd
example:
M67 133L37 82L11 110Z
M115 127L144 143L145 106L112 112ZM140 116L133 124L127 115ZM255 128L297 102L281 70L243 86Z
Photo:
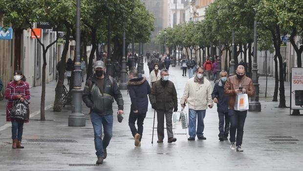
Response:
M143 122L149 104L148 95L151 93L151 87L145 77L138 76L137 70L131 70L129 78L128 90L131 100L129 126L135 139L135 146L141 146ZM136 121L138 130L135 126Z

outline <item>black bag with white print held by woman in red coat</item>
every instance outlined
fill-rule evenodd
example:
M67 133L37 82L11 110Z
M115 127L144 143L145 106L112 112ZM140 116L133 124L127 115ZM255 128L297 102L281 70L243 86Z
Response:
M14 102L11 118L19 120L28 120L29 119L29 101L24 98L24 101L16 100Z

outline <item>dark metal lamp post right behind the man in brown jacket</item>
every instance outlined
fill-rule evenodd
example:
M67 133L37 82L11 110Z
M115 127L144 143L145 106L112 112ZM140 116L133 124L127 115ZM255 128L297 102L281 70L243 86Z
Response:
M261 111L261 103L259 101L259 76L258 76L258 63L257 63L257 21L254 22L254 62L253 62L253 84L255 87L255 96L251 98L249 102L249 111L260 112Z

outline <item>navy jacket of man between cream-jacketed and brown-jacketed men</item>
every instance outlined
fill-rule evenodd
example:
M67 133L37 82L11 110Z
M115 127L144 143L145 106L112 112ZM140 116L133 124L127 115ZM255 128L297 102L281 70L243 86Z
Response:
M219 82L215 84L212 98L217 98L217 111L218 112L228 112L228 97L224 94L224 84L222 83L221 79L219 79Z

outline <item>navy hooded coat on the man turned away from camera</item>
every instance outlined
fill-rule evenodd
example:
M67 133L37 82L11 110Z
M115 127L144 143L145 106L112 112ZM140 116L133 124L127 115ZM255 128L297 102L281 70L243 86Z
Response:
M138 113L146 113L149 105L148 95L151 87L145 77L130 79L128 82L131 106L130 110L138 110Z

